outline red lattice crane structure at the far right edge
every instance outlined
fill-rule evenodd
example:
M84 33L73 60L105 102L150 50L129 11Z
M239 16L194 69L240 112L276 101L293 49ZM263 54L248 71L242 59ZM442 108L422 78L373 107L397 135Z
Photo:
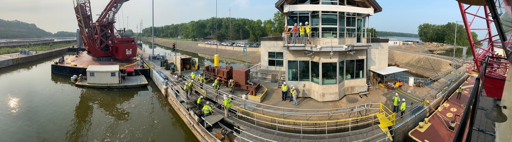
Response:
M475 70L479 72L482 70L482 64L485 62L486 57L489 56L487 68L484 69L484 90L489 97L501 98L509 65L504 55L508 54L509 51L507 48L504 48L506 45L503 45L502 42L507 44L507 41L501 41L503 39L500 39L498 33L493 33L495 21L485 1L461 0L458 2L467 38L469 39L470 48L473 52L473 60L475 62L474 67L468 66L466 71L470 72ZM510 4L508 1L505 1L503 7L506 7L506 5L508 6L506 10L509 11ZM490 8L493 7L495 6L490 6ZM506 14L500 16L506 16ZM485 23L485 27L476 27L474 26L475 23ZM485 31L486 35L482 40L473 40L471 32L477 30ZM479 43L481 43L481 45L478 45ZM503 50L502 53L497 52L501 52L501 50Z

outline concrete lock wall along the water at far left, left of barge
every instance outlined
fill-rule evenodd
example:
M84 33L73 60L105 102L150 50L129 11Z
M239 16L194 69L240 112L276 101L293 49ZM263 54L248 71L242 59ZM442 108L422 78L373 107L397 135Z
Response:
M49 52L45 52L45 53L38 53L38 54L34 54L34 55L4 59L4 60L0 60L0 68L9 67L12 65L18 65L18 64L22 64L22 63L27 63L27 62L31 62L33 60L50 57L50 56L54 56L54 55L61 55L65 52L68 52L68 48L58 49L58 50L49 51Z

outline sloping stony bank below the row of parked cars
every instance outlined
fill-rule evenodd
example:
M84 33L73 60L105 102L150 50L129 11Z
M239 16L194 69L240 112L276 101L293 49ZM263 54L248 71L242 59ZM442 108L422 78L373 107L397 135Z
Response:
M148 42L151 42L151 39L145 39ZM155 43L163 46L172 47L172 43L174 43L174 40L168 40L168 39L161 39L161 38L155 38ZM178 50L185 50L189 52L195 52L200 54L207 54L207 55L215 55L216 50L206 47L199 47L197 46L197 42L182 42L178 41L177 43L177 49ZM220 57L224 58L230 58L235 60L240 60L245 62L245 53L241 53L240 51L233 51L233 50L227 50L227 49L218 49L218 54ZM261 55L259 51L249 51L247 52L247 62L251 64L258 64L261 62L260 60Z

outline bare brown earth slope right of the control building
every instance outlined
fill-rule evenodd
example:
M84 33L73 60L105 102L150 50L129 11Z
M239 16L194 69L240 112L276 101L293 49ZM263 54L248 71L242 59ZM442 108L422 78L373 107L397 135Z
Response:
M409 69L408 72L426 78L451 69L451 63L452 62L448 60L440 58L393 50L390 50L388 55L388 64Z

